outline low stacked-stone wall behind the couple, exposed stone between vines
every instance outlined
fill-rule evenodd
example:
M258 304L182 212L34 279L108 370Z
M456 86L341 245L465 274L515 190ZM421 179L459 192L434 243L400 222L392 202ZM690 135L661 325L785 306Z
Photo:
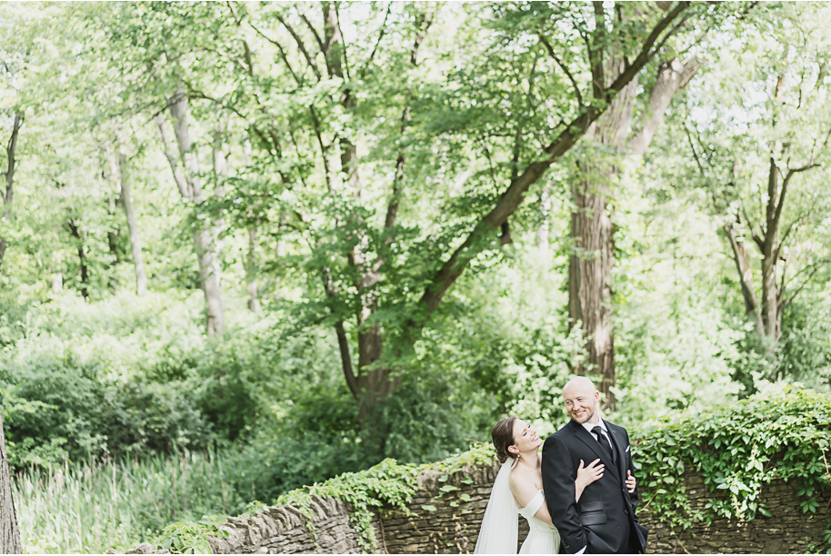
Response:
M385 553L469 553L476 546L498 467L468 467L450 476L424 472L408 511L387 508L375 520L376 551ZM686 485L693 511L704 508L713 494L695 473L679 478ZM649 528L650 553L804 553L821 546L829 517L826 504L816 514L799 507L796 485L774 482L760 496L772 516L753 521L719 518L709 526L673 530L650 512L649 494L642 492L640 521ZM827 500L827 499L826 499ZM269 508L251 517L232 518L222 525L227 539L211 539L215 553L356 553L359 545L348 508L334 499L315 497L314 518L306 523L295 508ZM520 542L527 533L519 519ZM313 531L313 532L310 532ZM142 545L136 551L148 553Z

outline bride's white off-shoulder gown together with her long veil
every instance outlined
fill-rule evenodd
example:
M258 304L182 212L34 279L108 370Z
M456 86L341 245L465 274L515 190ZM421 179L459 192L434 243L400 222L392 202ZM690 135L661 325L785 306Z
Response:
M487 502L485 517L476 538L475 554L516 554L519 517L527 521L530 531L522 543L520 554L556 554L560 550L560 533L556 527L537 519L534 514L546 503L543 491L536 493L525 508L517 509L511 494L509 477L511 461L503 463L496 474L494 488Z

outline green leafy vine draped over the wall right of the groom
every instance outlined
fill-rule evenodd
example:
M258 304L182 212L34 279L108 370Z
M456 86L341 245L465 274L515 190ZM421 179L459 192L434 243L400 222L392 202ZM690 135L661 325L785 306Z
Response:
M633 442L643 507L671 525L769 515L758 497L775 479L799 485L806 513L831 489L831 396L823 393L771 388L735 406L667 417ZM678 488L686 470L699 471L715 495L704 511L691 511Z

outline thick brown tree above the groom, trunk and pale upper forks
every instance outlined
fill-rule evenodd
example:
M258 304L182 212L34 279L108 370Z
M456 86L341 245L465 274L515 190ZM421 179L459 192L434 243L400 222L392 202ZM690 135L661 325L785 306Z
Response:
M669 9L670 5L664 3ZM601 91L627 68L626 45L615 39L616 27L636 21L643 4L618 5L607 9L594 2L595 26L588 57L591 64L594 102L608 103L604 114L591 124L576 159L576 177L571 193L575 209L571 213L573 251L568 264L568 313L572 325L582 327L586 338L585 371L600 376L598 389L604 405L615 409L615 341L613 334L614 296L612 271L615 265L615 225L613 199L616 182L629 164L646 153L666 109L698 70L695 55L670 57L660 62L655 80L638 103L639 75L611 99ZM685 16L689 17L690 14ZM610 32L611 30L611 32ZM588 35L584 39L588 40ZM556 56L553 48L550 55ZM578 98L579 91L576 92ZM638 104L645 104L636 112ZM631 163L630 163L631 164Z

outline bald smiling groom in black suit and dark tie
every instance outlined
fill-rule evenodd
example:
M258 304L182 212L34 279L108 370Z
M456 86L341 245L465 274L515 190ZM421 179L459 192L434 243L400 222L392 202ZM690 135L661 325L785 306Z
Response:
M633 473L626 429L600 419L600 393L586 377L576 377L563 388L571 421L543 445L543 490L551 520L571 554L646 553L646 527L637 522L637 491L626 490ZM597 458L606 471L575 501L575 479L580 460Z

